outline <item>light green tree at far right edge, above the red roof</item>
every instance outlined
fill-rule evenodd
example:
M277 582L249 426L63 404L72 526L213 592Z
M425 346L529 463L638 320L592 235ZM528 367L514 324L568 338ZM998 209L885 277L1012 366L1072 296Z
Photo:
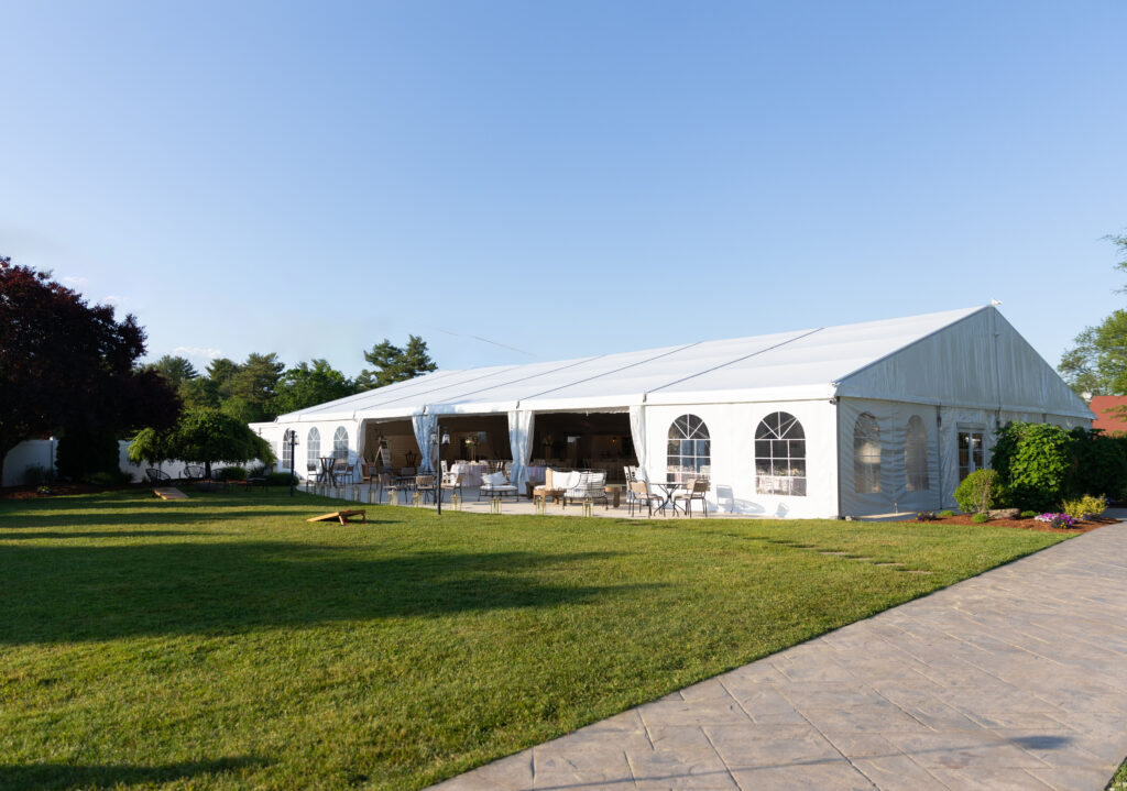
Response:
M1116 268L1127 273L1127 235L1107 237L1117 248ZM1119 293L1127 293L1127 287ZM1095 327L1085 327L1057 370L1076 393L1127 394L1127 311L1117 310Z

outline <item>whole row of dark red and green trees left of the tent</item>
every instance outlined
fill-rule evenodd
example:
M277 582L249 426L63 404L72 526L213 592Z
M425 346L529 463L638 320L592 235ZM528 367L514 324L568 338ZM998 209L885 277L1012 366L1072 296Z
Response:
M199 373L184 357L144 364L145 332L134 315L90 304L51 273L0 256L0 476L16 445L57 436L56 469L70 480L121 479L118 439L134 461L274 460L248 423L411 379L435 370L410 336L364 353L355 379L325 359L286 368L276 354L220 358Z

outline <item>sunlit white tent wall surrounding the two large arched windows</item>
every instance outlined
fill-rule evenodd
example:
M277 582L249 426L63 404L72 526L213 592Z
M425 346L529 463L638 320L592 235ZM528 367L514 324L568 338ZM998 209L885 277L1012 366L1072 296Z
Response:
M806 496L755 491L755 429L772 412L793 415L806 434ZM647 474L665 481L669 427L695 415L711 438L709 509L771 517L832 518L837 514L835 407L826 400L646 407Z

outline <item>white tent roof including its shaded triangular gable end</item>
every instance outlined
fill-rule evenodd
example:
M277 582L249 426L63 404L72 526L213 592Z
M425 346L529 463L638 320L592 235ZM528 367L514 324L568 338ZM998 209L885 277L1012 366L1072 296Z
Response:
M1003 343L995 345L995 352L983 347L990 336L983 329L987 325L1001 329ZM937 340L941 331L943 337ZM751 402L837 394L947 403L965 396L978 402L983 401L980 379L961 388L973 393L949 392L958 377L951 364L958 368L962 357L991 354L995 361L991 367L1003 371L1003 376L1036 380L1035 388L1021 393L1022 403L1008 407L1091 417L1083 401L997 311L984 306L550 363L435 371L290 412L278 421L394 418L424 409L441 414L517 408L606 411L642 402ZM1009 357L1003 361L1002 355ZM980 376L974 368L966 373ZM915 392L917 384L932 389ZM992 403L1008 400L1002 390L1006 388L992 396Z

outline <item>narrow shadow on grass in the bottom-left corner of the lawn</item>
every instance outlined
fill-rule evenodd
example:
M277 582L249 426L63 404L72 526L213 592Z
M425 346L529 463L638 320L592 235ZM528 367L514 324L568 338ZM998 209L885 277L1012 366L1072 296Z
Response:
M202 774L223 774L265 766L260 758L189 761L163 766L83 766L81 764L0 764L0 789L109 789L139 783L168 783Z

